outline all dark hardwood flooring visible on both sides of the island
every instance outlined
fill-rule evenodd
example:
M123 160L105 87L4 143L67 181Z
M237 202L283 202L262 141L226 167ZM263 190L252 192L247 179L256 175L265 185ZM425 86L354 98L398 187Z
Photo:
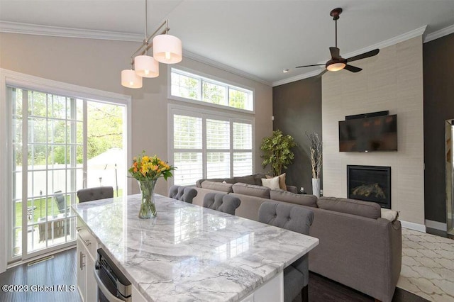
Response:
M82 299L77 291L76 249L66 250L54 255L53 259L28 266L22 264L0 274L0 284L27 285L27 292L4 292L0 290L0 301L65 301L79 302ZM66 285L68 291L31 291L31 286ZM74 291L71 291L71 286ZM311 302L366 302L374 298L326 279L318 274L309 273L309 301ZM426 302L419 296L397 288L393 302Z

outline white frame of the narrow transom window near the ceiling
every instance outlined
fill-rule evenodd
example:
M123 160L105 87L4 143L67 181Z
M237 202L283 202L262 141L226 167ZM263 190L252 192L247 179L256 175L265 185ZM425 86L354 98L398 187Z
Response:
M181 97L181 96L172 95L172 70L173 69L175 69L177 72L179 71L179 72L182 72L183 74L187 73L187 75L189 75L189 76L195 76L195 77L198 77L200 79L200 82L199 82L199 96L200 96L200 100L187 99L187 98L184 98L184 97ZM252 105L253 105L253 110L240 109L240 108L235 108L235 107L231 107L231 106L218 105L218 104L208 103L206 101L201 101L201 99L203 98L203 96L202 96L202 92L203 91L201 89L202 80L204 80L205 82L212 83L212 84L219 84L221 86L226 86L226 88L227 88L226 89L226 99L227 99L227 101L228 101L228 98L229 98L229 95L228 95L229 94L229 89L228 88L236 89L236 90L239 90L239 91L245 91L245 92L251 91L250 93L252 94L251 101L252 101ZM167 99L172 99L172 100L175 100L175 101L182 101L182 102L186 102L186 103L189 103L189 104L209 106L209 107L219 108L219 109L228 110L228 111L236 111L238 113L248 113L248 114L254 114L255 113L255 90L253 88L248 87L248 86L244 86L244 85L241 85L241 84L238 84L238 83L230 82L230 81L227 81L225 79L220 79L218 77L214 77L214 76L211 76L209 74L204 74L203 72L198 72L198 71L189 69L187 67L182 67L182 66L172 67L170 65L167 66L167 83L168 83L168 85L167 85Z

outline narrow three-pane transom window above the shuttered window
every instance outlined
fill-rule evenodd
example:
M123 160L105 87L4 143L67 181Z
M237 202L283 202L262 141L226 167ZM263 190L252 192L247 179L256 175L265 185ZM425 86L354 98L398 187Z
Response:
M253 91L171 68L170 98L253 111Z

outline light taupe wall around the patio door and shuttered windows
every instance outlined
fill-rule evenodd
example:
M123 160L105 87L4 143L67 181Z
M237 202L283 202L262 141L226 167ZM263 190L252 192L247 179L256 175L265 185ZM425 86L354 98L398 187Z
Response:
M140 43L0 33L0 44L1 68L130 95L133 155L146 150L167 158L167 104L178 103L167 99L167 65L160 65L160 77L144 79L142 89L120 84L120 72L129 67L129 57ZM262 138L271 134L271 86L187 58L179 65L254 89L255 145L260 146ZM262 171L259 155L255 168ZM138 191L135 184L133 191ZM167 194L165 181L158 182L157 193Z

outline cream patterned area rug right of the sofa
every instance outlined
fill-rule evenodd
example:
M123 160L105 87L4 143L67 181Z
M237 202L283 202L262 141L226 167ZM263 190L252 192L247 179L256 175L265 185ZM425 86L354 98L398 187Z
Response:
M429 301L454 302L454 240L402 228L397 287Z

